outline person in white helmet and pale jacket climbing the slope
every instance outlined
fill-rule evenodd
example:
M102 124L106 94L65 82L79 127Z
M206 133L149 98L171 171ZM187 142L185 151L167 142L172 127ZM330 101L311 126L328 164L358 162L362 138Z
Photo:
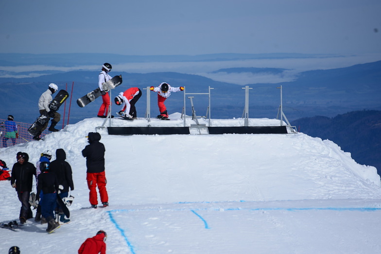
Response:
M54 127L57 125L59 120L61 119L61 115L49 108L49 103L52 102L52 94L55 93L58 90L58 86L51 83L48 86L48 90L46 90L44 93L41 94L40 99L38 100L38 109L40 111L40 115L46 115L52 118L52 124L49 127L49 131L51 132L58 132L59 130L55 129ZM46 124L42 127L42 129L33 137L35 140L40 140L41 133L48 127L49 121L46 122Z

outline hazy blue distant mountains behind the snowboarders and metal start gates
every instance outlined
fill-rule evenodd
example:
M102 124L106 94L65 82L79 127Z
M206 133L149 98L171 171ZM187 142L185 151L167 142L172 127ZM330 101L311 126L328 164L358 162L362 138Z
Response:
M131 56L107 55L114 57L113 61L133 61ZM59 62L60 65L70 66L73 59L78 60L77 64L99 63L103 54L58 54L58 55L32 55L32 54L0 54L0 63L6 62L15 65L49 65ZM185 57L185 58L184 58ZM215 54L201 56L136 56L134 61L176 61L193 59L194 61L204 61L206 59L235 59L238 57L309 57L309 55L290 54ZM313 57L319 57L314 55ZM66 60L65 60L66 59ZM117 62L117 61L116 61ZM114 62L113 62L114 63ZM17 68L17 67L15 67ZM282 68L225 68L218 72L226 73L273 73L279 74L285 71ZM90 103L84 108L76 105L76 99L82 97L89 91L95 89L98 83L98 71L42 71L25 72L25 75L35 75L37 77L10 78L10 71L2 71L3 78L0 78L0 103L4 115L13 114L19 121L33 122L38 115L37 101L49 83L53 82L64 88L62 84L68 84L68 91L71 93L71 84L74 82L73 93L69 100L72 100L70 109L70 122L77 122L84 118L95 117L101 104L100 100ZM20 74L20 73L18 73ZM38 75L37 75L38 74ZM158 85L161 82L168 82L173 86L185 86L187 93L206 93L208 86L211 90L211 117L216 119L228 119L242 117L244 109L244 89L242 85L217 82L199 75L183 74L176 72L154 72L154 73L127 73L114 72L112 75L121 74L123 84L112 91L112 96L131 86L137 86L143 91L143 96L137 103L138 116L144 116L146 110L146 88L151 85ZM277 84L253 84L249 92L249 117L250 118L276 118L280 105L280 86L283 92L283 111L290 121L303 117L313 117L317 115L334 117L338 114L355 110L381 110L381 61L355 65L348 68L337 68L328 70L312 70L299 73L293 82L283 82ZM187 107L190 101L187 98ZM68 101L69 102L69 101ZM193 99L196 112L205 115L208 107L208 96L197 95ZM173 93L166 102L170 113L181 112L184 105L184 94ZM69 107L69 105L68 105ZM113 112L117 111L113 105ZM187 109L190 112L190 109ZM158 113L156 98L151 96L151 114Z

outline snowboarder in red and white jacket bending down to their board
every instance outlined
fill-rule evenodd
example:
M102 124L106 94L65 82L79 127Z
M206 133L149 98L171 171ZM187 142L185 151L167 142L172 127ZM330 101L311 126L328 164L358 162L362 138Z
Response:
M119 95L114 99L115 104L122 105L122 109L118 112L118 115L121 117L136 119L137 114L135 103L138 102L140 97L141 90L138 87L131 87L124 92L119 93Z

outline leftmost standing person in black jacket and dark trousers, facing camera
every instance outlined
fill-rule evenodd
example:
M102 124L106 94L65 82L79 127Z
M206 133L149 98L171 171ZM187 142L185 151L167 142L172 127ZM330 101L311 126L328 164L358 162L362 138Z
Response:
M36 168L28 160L28 153L18 152L17 163L13 165L11 174L11 185L16 188L18 200L21 202L19 216L21 224L33 218L29 195L32 191L33 175L36 174Z

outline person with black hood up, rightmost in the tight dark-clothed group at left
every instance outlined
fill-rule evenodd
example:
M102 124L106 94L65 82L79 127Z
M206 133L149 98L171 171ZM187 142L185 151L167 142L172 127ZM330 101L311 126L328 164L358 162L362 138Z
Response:
M62 189L59 193L61 199L69 196L69 188L70 190L74 190L72 171L69 162L66 160L66 152L59 148L55 151L55 160L53 160L50 164L50 171L55 173L58 179L58 184L61 185ZM56 208L58 208L57 206ZM66 224L69 223L69 218L65 218L65 214L62 211L62 208L58 208L58 223Z

